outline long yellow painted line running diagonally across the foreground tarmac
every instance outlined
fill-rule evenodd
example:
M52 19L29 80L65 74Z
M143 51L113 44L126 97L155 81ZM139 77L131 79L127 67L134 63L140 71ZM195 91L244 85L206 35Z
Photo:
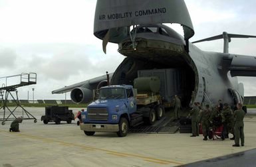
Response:
M9 133L7 131L3 131L0 129L0 132L5 132L5 133ZM56 142L59 143L61 145L64 146L77 146L78 148L83 148L86 150L98 150L98 151L102 151L102 152L106 152L107 154L112 154L114 156L122 156L122 157L133 157L133 158L139 158L148 162L154 162L154 163L158 163L158 164L176 164L176 165L183 165L184 163L182 162L178 162L178 161L172 161L172 160L163 160L163 159L159 159L159 158L153 158L150 156L143 156L143 155L139 155L139 154L132 154L132 153L125 153L125 152L118 152L118 151L114 151L114 150L107 150L104 148L96 148L96 147L92 147L92 146L84 146L82 144L74 144L71 142L63 142L60 140L54 140L54 139L48 139L45 137L40 137L40 136L36 136L36 135L28 135L28 134L23 134L23 133L13 133L11 132L10 134L15 134L17 136L20 137L27 137L29 139L35 139L35 140L43 140L44 142Z

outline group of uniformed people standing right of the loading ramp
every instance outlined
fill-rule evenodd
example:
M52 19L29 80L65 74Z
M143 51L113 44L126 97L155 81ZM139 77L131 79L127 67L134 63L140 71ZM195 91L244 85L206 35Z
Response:
M218 105L211 108L209 105L201 107L200 103L194 102L193 109L190 111L189 116L192 119L192 135L190 137L199 136L199 125L201 124L203 140L209 137L209 129L213 129L223 125L223 132L221 139L228 139L229 133L233 135L231 140L235 140L233 146L240 146L239 140L241 139L241 146L244 146L245 137L243 133L243 118L245 111L242 109L242 104L237 104L237 109L232 111L227 103L221 103L219 100Z

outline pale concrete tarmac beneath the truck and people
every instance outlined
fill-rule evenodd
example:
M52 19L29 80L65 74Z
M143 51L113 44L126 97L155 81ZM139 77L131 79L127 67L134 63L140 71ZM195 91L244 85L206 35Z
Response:
M204 141L202 135L184 133L129 133L123 138L116 133L95 133L88 137L76 121L45 125L40 121L45 108L26 109L37 123L24 120L20 133L9 132L11 121L0 125L0 166L180 166L256 148L253 114L244 119L245 146L233 147L233 140ZM74 114L77 111L73 109Z

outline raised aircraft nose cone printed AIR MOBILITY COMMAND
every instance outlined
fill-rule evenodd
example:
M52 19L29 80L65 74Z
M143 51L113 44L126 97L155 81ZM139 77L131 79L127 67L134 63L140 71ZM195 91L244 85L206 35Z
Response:
M98 0L94 16L94 35L119 44L130 36L130 26L161 23L182 25L185 40L194 34L184 0Z

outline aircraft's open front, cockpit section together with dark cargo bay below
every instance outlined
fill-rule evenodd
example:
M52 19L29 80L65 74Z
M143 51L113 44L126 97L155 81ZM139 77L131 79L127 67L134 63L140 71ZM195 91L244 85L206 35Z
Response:
M170 103L177 94L187 107L192 91L197 91L198 75L184 37L162 24L137 25L129 34L118 44L118 52L126 58L114 72L111 84L133 85L134 78L158 76L164 101Z

